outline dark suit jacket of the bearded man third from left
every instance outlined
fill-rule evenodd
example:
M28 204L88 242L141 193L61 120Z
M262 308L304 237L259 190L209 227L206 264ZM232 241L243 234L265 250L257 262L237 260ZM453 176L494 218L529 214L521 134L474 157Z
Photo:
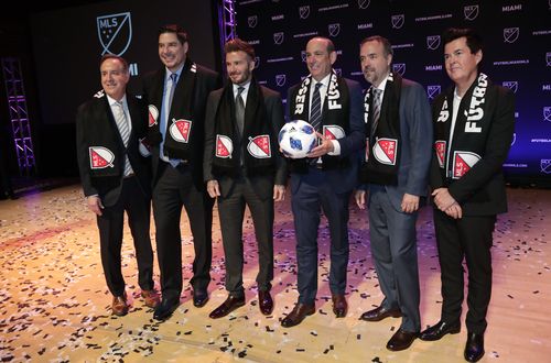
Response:
M270 122L271 138L272 140L278 140L279 131L283 127L283 106L281 103L281 96L279 92L260 86L262 96L264 98L266 113L269 117L268 122ZM216 110L218 109L218 103L220 102L220 97L224 88L217 89L208 96L206 119L205 119L205 154L204 154L204 180L217 179L220 186L220 194L226 197L234 186L234 178L229 176L224 176L217 178L213 175L213 158L214 158L214 147L215 147L215 117ZM248 94L249 95L249 94ZM250 102L246 102L245 113L250 112ZM229 121L229 120L228 120ZM262 175L250 177L249 180L255 189L255 193L261 199L271 198L273 195L273 185L285 185L287 184L287 163L284 158L278 151L274 151L276 157L276 173L272 175Z

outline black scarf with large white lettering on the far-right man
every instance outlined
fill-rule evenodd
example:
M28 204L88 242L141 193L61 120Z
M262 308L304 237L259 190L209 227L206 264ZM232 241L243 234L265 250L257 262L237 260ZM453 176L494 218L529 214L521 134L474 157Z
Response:
M446 179L458 179L484 155L490 124L485 118L489 105L495 105L495 87L480 73L460 103L452 145L449 145L453 114L454 89L451 87L434 101L434 151ZM447 160L446 160L447 157Z

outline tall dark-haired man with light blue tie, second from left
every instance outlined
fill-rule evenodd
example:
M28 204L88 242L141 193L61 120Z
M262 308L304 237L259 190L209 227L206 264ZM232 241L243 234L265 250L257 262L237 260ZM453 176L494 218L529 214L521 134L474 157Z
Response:
M190 219L195 260L193 304L208 300L214 201L203 184L205 105L218 87L218 75L188 56L187 33L179 25L159 30L159 57L164 67L143 79L149 103L153 163L153 216L161 270L162 301L153 318L164 320L180 305L182 293L182 207Z

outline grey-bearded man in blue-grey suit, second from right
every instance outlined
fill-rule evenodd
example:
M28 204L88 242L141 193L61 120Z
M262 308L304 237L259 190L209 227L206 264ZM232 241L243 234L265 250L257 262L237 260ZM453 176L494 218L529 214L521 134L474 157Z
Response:
M359 208L369 193L369 239L385 299L360 317L402 317L387 349L408 349L421 329L415 221L426 196L431 163L431 110L421 85L390 72L392 47L382 36L360 44L365 98L366 157L360 170ZM366 185L367 184L367 185Z

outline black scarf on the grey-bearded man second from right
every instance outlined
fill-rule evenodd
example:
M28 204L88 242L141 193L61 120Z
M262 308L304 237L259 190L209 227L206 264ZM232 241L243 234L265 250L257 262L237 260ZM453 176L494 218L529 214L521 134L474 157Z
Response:
M400 96L402 77L390 73L385 87L379 122L371 135L372 90L364 99L364 120L366 121L366 162L361 165L361 183L397 185L400 165ZM371 142L370 142L371 141Z

